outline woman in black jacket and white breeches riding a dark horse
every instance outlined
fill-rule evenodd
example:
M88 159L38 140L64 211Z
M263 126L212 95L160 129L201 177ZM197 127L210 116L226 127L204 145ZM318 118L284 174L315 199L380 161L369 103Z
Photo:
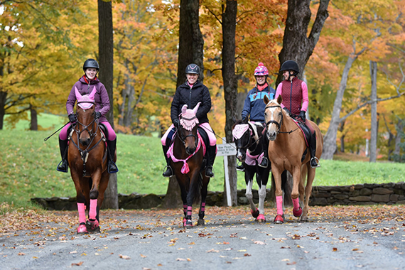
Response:
M201 105L198 108L198 112L195 114L195 116L200 123L199 126L205 131L210 139L210 145L207 146L208 158L207 166L205 168L205 175L207 175L207 177L214 177L212 166L214 165L215 154L217 151L217 139L215 138L215 133L212 131L207 117L207 113L210 112L211 109L210 92L205 85L202 85L202 83L198 81L198 77L200 77L200 67L198 67L198 65L188 65L187 68L185 68L185 76L187 77L186 82L177 88L173 97L173 102L171 103L171 120L173 124L168 128L161 139L163 153L165 155L167 164L165 167L166 171L163 173L163 176L171 177L173 175L171 158L168 158L166 153L171 145L175 129L180 128L180 119L178 119L178 116L183 108L183 105L188 105L188 108L194 108L198 102L200 102Z

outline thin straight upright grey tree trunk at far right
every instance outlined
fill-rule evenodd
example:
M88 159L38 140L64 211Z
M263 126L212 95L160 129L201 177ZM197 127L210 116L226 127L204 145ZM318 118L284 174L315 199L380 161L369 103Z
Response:
M377 160L377 62L370 61L370 77L372 79L370 162L375 162Z

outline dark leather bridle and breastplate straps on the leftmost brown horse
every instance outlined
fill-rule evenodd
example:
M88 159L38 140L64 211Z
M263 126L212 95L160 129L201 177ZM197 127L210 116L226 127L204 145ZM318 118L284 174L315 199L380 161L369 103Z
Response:
M93 106L95 106L95 102L77 102L77 104L80 103L91 103L93 104ZM80 129L77 129L78 125L83 126L82 131L80 131ZM96 124L96 125L95 125ZM92 129L89 130L89 126L92 126ZM95 128L95 132L93 133L93 129ZM97 131L99 130L99 122L94 118L90 124L85 125L83 123L81 123L79 120L77 120L75 122L75 124L72 124L72 129L76 132L77 135L77 144L75 143L74 140L72 140L72 144L74 144L77 148L77 150L80 152L80 156L82 157L82 161L83 161L83 176L86 175L86 162L87 162L87 158L89 157L89 152L92 151L92 149L96 148L96 146L101 142L101 141L105 141L104 138L104 134L101 132L102 136L99 139L99 141L97 141L97 143L92 146L90 148L90 146L92 145L92 142L94 141L95 137L97 136ZM87 131L89 136L90 136L90 142L89 144L87 144L87 148L85 148L85 150L82 150L82 148L80 148L80 134L82 134L83 131ZM68 140L71 139L72 134L70 134Z

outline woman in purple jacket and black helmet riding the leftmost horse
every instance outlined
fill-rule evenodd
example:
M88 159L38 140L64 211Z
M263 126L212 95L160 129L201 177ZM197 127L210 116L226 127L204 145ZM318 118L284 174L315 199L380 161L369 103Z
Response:
M79 90L81 95L89 95L95 87L97 90L95 94L95 118L99 119L99 123L106 127L108 133L107 146L110 154L108 155L109 160L107 169L109 173L117 173L118 168L113 161L117 145L117 135L115 134L114 129L112 129L111 124L107 121L107 118L104 117L104 115L109 112L109 97L104 85L97 78L99 63L94 59L87 59L83 64L83 71L85 72L85 75L80 77L75 85L73 85L68 101L66 102L66 110L68 111L70 124L67 124L59 134L59 148L62 161L59 163L57 170L63 173L68 173L68 129L71 124L74 124L77 121L77 116L73 110L76 102L75 88Z

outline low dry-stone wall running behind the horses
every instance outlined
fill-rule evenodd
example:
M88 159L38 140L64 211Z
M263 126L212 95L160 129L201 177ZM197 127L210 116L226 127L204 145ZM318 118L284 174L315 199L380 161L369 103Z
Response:
M246 190L237 191L238 205L247 205ZM257 190L253 190L253 200L259 202ZM118 195L120 209L148 209L158 207L165 195L133 193ZM266 200L271 198L267 190ZM46 210L77 210L76 198L33 198ZM206 205L222 206L224 193L208 192ZM314 186L310 205L374 205L374 204L405 204L405 183L362 184L343 186ZM272 205L272 204L271 204Z

